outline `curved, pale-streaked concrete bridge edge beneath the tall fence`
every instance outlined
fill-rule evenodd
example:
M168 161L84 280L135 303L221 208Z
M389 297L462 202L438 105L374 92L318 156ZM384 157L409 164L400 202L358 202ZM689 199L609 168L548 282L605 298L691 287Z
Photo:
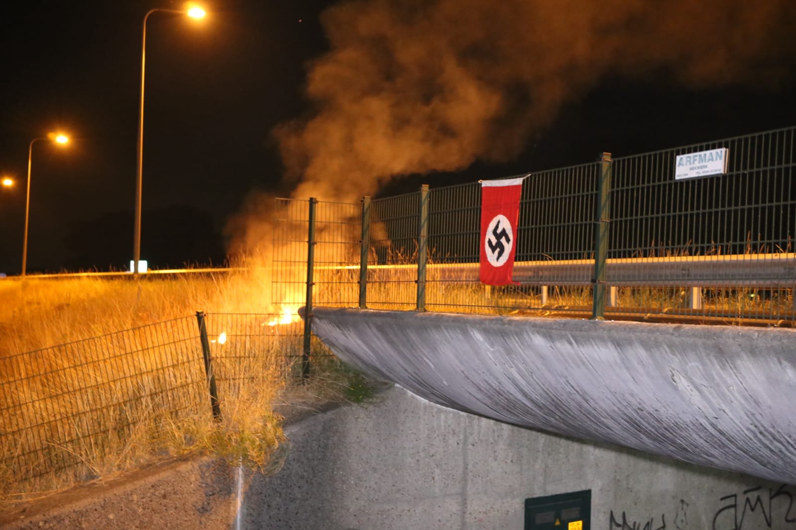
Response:
M354 366L435 403L796 484L796 331L314 308Z

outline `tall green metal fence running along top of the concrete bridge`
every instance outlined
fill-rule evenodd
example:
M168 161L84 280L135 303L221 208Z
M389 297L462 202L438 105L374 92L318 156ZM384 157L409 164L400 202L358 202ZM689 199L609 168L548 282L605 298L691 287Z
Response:
M720 148L728 149L724 174L675 179L678 155ZM517 284L500 287L478 281L478 183L338 203L316 221L345 230L334 238L335 259L309 260L307 307L314 298L376 309L789 324L793 168L788 128L533 173L521 195ZM306 237L310 248L332 243ZM318 274L337 278L334 300L313 293Z

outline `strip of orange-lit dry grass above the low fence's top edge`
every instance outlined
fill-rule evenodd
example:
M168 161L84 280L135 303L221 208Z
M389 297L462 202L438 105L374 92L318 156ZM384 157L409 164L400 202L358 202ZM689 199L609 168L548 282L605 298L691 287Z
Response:
M38 350L196 311L269 313L264 267L233 273L0 281L0 355Z

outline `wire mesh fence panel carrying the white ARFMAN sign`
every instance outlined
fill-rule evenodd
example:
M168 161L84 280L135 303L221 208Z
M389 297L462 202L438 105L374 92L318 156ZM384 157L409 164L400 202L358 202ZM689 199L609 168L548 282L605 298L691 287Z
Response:
M699 161L691 153L707 154ZM725 157L726 172L676 178L684 165L700 168L709 157ZM792 321L793 168L793 128L617 158L611 311Z

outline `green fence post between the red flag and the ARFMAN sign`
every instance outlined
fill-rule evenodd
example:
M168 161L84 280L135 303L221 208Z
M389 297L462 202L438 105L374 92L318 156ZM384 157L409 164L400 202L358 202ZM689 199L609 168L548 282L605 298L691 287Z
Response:
M608 222L611 215L611 166L614 161L611 153L603 153L599 158L600 168L597 185L597 219L595 220L595 271L592 292L591 318L605 318L606 273L608 257Z

